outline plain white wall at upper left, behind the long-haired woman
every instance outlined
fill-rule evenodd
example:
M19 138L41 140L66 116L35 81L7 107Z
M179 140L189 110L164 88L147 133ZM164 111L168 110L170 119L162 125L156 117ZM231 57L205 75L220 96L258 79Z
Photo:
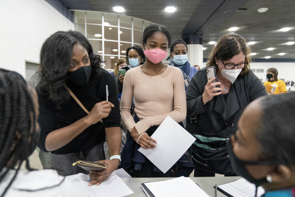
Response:
M9 0L0 5L0 68L25 77L25 62L39 62L42 43L74 24L44 0Z

